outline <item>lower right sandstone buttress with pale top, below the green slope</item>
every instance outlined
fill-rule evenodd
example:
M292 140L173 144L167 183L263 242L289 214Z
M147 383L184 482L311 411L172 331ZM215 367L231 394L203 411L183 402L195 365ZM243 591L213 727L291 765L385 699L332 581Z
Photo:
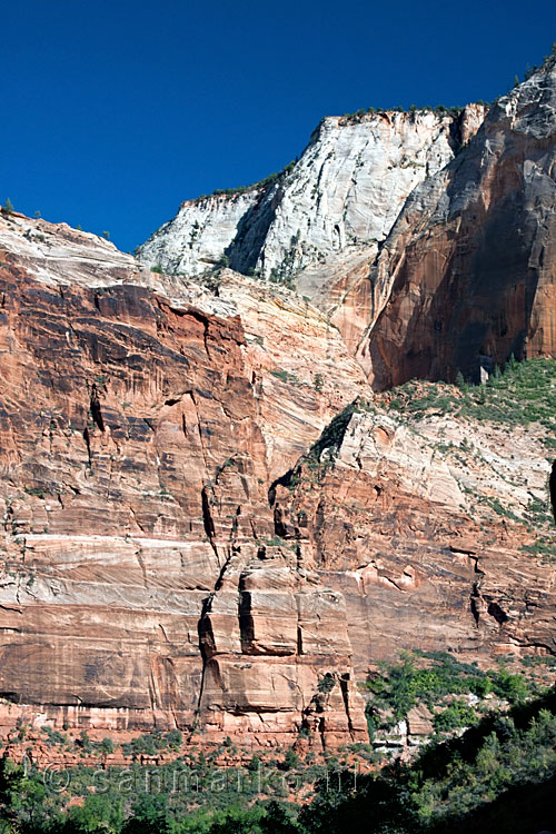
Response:
M554 564L522 550L530 502L546 499L542 439L542 429L508 438L505 427L363 408L278 488L285 535L346 600L356 676L400 648L443 647L485 666L554 654Z

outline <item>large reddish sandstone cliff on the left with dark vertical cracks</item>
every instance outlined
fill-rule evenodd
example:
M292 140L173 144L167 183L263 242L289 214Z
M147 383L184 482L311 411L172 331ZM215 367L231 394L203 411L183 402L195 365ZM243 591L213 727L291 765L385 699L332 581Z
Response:
M291 743L326 671L322 743L365 735L344 598L268 500L365 387L338 331L287 290L153 275L170 300L93 236L0 224L0 723Z

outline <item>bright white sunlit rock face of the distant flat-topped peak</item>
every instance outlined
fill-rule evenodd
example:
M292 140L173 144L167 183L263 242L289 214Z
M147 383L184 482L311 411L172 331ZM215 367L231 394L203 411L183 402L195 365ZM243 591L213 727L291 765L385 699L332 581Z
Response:
M420 111L324 119L272 208L264 242L254 224L232 246L232 265L295 276L335 252L384 240L415 186L453 158L459 121L467 120L466 112Z

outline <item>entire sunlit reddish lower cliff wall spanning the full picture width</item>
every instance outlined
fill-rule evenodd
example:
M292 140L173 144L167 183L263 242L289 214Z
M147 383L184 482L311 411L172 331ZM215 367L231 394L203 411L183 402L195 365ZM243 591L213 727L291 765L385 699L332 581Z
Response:
M370 403L322 314L231 271L14 215L0 261L4 731L329 748L401 647L555 653L550 550L523 549L549 428Z

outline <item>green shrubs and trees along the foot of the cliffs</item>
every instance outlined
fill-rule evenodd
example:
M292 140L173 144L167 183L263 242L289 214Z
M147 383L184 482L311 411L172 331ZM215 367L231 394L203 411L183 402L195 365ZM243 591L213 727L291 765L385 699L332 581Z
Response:
M294 749L274 761L255 754L245 767L218 767L217 756L229 754L231 743L208 754L190 749L157 768L137 764L97 771L97 781L90 767L75 766L59 773L61 778L43 780L37 767L24 770L3 758L0 830L6 834L539 831L554 820L555 713L553 691L505 715L483 717L460 737L428 745L413 764L396 762L357 776L353 768L341 770L338 756L328 756L326 766L317 765L310 756L301 761ZM445 721L458 724L465 718L464 706L453 702L449 715ZM61 733L48 734L67 743ZM300 736L310 737L307 727ZM365 745L349 747L351 755L373 755ZM346 756L341 762L347 762ZM315 782L311 802L304 806L288 802L291 793L307 796ZM60 791L64 783L67 790Z

